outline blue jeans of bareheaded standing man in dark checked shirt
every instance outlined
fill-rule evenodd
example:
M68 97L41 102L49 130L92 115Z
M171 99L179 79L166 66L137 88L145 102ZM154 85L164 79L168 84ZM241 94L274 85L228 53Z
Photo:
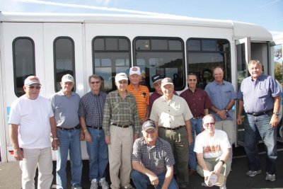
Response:
M89 180L93 178L105 178L105 169L108 165L108 145L105 143L103 130L93 129L88 127L88 132L91 134L93 142L86 142L88 150L89 164Z

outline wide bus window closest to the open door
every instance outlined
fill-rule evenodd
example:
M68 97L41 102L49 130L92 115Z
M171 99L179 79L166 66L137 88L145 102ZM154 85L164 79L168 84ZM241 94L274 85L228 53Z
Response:
M205 88L213 81L212 69L224 68L224 80L231 82L230 43L223 39L190 38L187 40L187 73L195 72L198 85Z

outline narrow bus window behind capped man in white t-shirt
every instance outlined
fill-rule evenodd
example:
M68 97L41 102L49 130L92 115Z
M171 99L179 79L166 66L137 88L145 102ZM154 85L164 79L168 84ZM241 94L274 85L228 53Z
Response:
M35 44L31 38L13 40L13 76L16 96L22 96L23 84L28 76L35 75Z

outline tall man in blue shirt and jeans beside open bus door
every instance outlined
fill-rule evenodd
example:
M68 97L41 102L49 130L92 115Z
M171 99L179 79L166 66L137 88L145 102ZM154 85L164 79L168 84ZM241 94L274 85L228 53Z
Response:
M281 101L281 91L271 76L262 74L262 64L258 60L248 63L250 76L242 81L238 91L239 109L237 122L242 124L243 108L245 116L245 150L248 156L247 176L261 173L258 156L258 138L261 137L267 150L266 177L267 181L275 181L277 159L277 125ZM260 136L258 136L258 134Z

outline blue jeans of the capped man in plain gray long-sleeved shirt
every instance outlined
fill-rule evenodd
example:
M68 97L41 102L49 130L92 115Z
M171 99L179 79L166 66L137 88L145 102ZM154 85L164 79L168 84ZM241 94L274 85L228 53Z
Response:
M81 172L83 163L81 161L81 141L79 138L81 130L57 129L59 148L57 150L56 184L57 189L67 188L67 158L68 152L71 161L71 185L81 186Z

